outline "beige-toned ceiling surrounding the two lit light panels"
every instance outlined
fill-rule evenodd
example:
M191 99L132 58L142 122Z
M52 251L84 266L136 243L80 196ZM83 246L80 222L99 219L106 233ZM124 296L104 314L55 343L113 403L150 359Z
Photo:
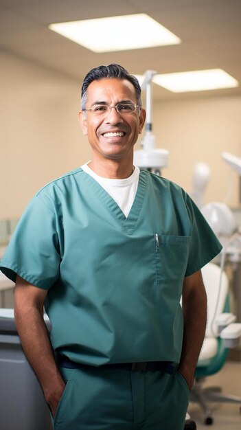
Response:
M181 45L95 54L47 28L49 23L140 12L179 36ZM176 95L155 85L154 98L236 95L241 93L241 0L0 0L0 48L78 82L92 67L109 63L138 74L220 68L240 87Z

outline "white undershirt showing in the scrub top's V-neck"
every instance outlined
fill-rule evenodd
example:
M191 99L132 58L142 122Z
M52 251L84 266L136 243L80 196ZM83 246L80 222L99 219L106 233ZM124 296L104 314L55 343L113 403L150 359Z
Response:
M89 163L89 161L88 161ZM97 183L99 183L108 194L115 200L115 203L121 208L124 215L128 216L130 209L135 200L139 181L139 167L135 167L133 174L126 179L108 179L100 177L89 168L88 163L81 166L82 170L89 174Z

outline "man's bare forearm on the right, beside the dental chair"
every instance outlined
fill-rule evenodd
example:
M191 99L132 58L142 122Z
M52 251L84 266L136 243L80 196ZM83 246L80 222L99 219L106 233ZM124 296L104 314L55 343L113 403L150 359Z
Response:
M190 388L207 324L207 297L203 284L193 288L183 301L183 347L179 372L185 376Z

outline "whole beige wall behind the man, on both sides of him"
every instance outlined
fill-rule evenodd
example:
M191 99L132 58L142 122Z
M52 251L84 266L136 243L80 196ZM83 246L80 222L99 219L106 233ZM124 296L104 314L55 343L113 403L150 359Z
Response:
M90 157L78 124L80 82L2 52L0 219L18 217L33 194L51 179ZM222 201L229 168L222 150L241 156L241 98L195 98L154 103L157 146L170 150L163 170L188 192L194 163L205 161L211 180L205 201ZM138 145L137 145L138 146ZM230 205L238 205L233 173Z

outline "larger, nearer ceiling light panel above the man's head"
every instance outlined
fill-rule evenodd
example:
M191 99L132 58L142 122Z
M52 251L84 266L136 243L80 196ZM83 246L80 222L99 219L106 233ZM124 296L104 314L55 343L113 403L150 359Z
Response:
M176 45L181 39L146 14L50 24L49 29L93 52Z

